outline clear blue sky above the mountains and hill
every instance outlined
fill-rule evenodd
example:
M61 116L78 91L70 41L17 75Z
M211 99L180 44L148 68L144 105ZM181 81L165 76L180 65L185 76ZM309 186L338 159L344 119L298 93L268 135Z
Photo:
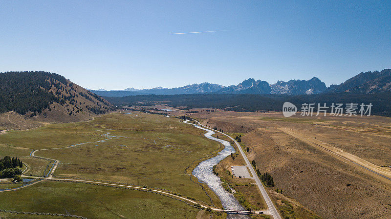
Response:
M124 89L314 76L329 85L391 68L390 0L276 2L1 1L0 71ZM227 31L170 34L214 30Z

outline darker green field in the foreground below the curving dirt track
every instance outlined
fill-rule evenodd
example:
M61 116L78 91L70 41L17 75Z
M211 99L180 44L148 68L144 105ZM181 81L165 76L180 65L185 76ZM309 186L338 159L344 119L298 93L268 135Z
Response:
M3 193L0 199L0 209L71 214L90 219L194 219L198 212L181 201L149 192L55 181Z

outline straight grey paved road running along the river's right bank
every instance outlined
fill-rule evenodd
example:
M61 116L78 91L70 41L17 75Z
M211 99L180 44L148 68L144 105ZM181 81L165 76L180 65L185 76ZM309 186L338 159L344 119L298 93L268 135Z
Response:
M198 121L197 121L198 122ZM198 124L202 125L200 122L198 122ZM206 126L203 126L204 128L208 128ZM208 129L211 129L211 128L208 128ZM225 133L222 133L222 132L219 132L217 130L214 130L214 129L211 129L213 130L214 132L218 132L220 134L223 134L225 136L227 136L229 139L233 140L236 144L236 146L238 146L239 148L239 151L240 151L240 154L241 156L244 158L244 160L246 161L246 164L247 166L249 167L250 169L250 172L251 174L253 175L253 179L255 180L258 188L260 189L261 191L261 194L263 196L263 199L265 199L266 201L266 204L267 204L267 207L269 208L269 213L273 216L274 219L282 219L280 214L278 213L277 209L276 209L276 206L274 206L272 200L270 199L269 195L267 194L265 188L263 187L262 183L261 183L261 180L257 177L257 173L255 172L253 166L251 165L251 162L247 159L247 156L246 154L244 154L244 151L241 149L241 146L240 144L238 143L238 141L236 141L235 139L233 139L231 136L225 134Z

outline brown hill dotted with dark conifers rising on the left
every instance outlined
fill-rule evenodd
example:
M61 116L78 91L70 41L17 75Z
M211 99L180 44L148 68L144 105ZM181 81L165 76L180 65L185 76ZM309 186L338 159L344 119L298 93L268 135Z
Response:
M107 100L54 73L0 73L0 128L88 120L113 109Z

